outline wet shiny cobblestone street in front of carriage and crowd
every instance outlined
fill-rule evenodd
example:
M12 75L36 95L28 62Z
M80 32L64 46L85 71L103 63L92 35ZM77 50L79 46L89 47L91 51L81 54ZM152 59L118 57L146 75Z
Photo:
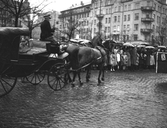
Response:
M89 83L58 92L46 81L37 86L18 81L0 99L0 128L167 128L167 74L145 70L105 76L97 86L93 71Z

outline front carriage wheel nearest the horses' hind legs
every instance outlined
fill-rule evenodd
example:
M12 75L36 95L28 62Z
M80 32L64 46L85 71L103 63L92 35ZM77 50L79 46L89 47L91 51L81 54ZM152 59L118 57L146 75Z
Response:
M47 81L49 87L54 91L65 87L68 81L68 73L63 63L57 63L50 68Z

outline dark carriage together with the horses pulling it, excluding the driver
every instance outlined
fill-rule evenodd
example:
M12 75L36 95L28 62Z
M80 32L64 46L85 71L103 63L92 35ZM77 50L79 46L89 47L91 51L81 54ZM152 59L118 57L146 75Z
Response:
M57 56L58 49L52 43L46 43L45 48L30 47L28 50L20 50L21 39L28 35L29 30L25 28L0 28L0 97L12 91L18 77L34 85L47 78L49 87L57 91L66 83L74 82L78 73L82 84L80 70L94 63L99 65L98 83L104 80L106 52L102 48L68 44L62 49L69 56L67 53ZM99 38L92 43L96 44L97 41ZM71 71L75 72L73 80L69 75ZM89 78L90 69L87 70L86 80Z

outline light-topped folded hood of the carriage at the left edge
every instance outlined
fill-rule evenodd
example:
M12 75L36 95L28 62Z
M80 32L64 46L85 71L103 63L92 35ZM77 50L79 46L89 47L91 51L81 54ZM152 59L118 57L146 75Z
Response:
M1 36L18 36L18 35L29 35L29 29L27 28L20 28L20 27L1 27L0 28L0 35Z

